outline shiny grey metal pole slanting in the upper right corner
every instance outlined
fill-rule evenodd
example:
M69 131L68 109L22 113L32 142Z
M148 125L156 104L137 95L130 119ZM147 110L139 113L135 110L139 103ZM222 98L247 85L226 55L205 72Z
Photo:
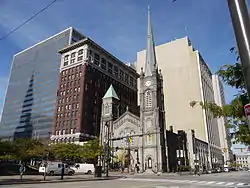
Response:
M242 71L250 97L250 21L246 0L228 0Z

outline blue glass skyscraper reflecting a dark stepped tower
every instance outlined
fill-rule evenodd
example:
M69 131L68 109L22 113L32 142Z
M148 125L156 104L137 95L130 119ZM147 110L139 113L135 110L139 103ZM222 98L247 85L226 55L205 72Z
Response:
M0 139L49 138L59 79L58 51L83 38L68 28L14 55Z

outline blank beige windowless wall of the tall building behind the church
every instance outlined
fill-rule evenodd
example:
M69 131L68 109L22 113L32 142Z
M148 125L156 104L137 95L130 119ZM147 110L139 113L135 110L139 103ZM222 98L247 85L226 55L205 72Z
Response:
M156 60L163 75L167 129L169 126L173 126L174 132L194 129L198 139L207 141L204 111L190 107L191 101L202 100L198 54L186 37L156 46ZM141 67L145 67L145 50L137 53L138 73Z

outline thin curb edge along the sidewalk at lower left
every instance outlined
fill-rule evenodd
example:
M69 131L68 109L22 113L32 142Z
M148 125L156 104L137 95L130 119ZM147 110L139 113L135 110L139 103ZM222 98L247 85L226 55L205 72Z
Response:
M104 177L104 178L93 178L93 179L64 179L64 180L41 180L41 181L34 181L34 180L28 180L28 181L6 181L1 182L0 185L19 185L19 184L43 184L43 183L66 183L66 182L81 182L81 181L104 181L104 180L115 180L119 178L124 178L121 176L115 176L115 177Z

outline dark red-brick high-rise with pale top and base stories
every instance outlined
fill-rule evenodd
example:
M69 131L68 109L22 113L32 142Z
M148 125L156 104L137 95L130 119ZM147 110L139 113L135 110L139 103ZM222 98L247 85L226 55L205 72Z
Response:
M112 84L120 98L117 116L126 106L139 113L139 75L90 38L59 51L61 53L57 107L51 139L83 143L100 132L102 97ZM114 119L117 118L113 117Z

